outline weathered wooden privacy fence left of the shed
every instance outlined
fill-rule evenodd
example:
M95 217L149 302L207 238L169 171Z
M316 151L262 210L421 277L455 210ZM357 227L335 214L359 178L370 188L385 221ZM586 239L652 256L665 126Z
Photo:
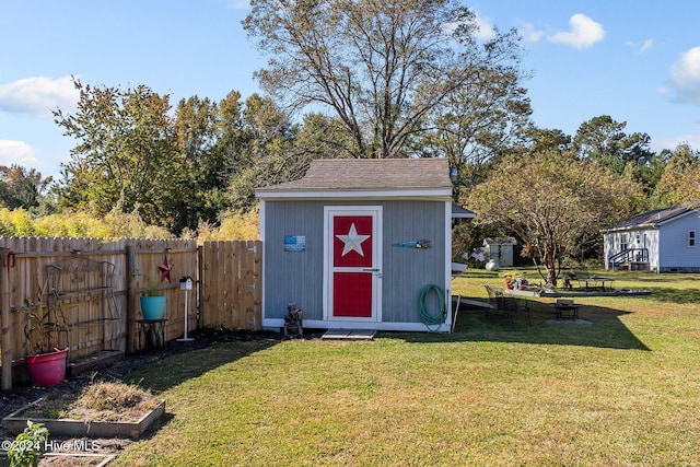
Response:
M12 386L12 369L31 350L24 337L25 300L37 314L61 310L68 332L59 345L69 347L72 363L145 347L139 297L153 281L166 295L165 341L184 334L186 296L188 330L259 329L260 250L260 242L198 247L184 240L0 237L1 388ZM183 277L194 280L188 293L180 290Z

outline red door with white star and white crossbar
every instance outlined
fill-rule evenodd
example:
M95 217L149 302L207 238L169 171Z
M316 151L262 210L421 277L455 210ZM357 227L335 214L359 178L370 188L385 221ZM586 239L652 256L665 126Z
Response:
M331 319L371 320L377 316L378 211L329 211Z

